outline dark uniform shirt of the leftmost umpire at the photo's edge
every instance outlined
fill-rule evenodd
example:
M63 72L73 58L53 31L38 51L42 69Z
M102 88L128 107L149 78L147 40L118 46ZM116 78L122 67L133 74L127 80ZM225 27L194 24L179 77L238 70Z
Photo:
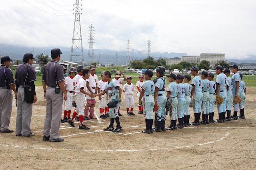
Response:
M6 66L0 66L0 87L10 87L14 84L12 71Z

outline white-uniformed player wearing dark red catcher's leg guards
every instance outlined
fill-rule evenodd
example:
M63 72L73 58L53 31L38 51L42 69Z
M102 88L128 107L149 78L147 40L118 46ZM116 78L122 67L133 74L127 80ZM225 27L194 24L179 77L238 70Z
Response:
M89 94L96 94L96 88L98 86L98 77L97 75L95 74L95 70L96 70L96 67L95 66L90 66L90 76L87 80L87 84L86 84L86 92L89 93ZM85 95L85 98L86 98L86 107L84 108L85 110L85 117L87 118L92 118L92 119L97 119L97 117L94 115L94 106L96 104L96 101L95 101L95 98L91 98L90 96L88 95ZM88 117L88 113L89 113L89 109L90 109L90 117Z

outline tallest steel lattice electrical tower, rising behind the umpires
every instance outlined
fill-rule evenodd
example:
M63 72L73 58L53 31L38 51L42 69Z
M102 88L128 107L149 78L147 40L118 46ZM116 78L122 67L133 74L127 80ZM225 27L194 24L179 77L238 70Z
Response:
M78 59L78 61L80 61L81 64L84 64L84 52L80 25L80 14L82 14L80 10L82 10L82 8L80 8L79 0L76 0L76 4L74 4L74 6L76 6L76 8L73 9L75 10L75 23L73 30L70 61L73 62L73 60L77 61Z

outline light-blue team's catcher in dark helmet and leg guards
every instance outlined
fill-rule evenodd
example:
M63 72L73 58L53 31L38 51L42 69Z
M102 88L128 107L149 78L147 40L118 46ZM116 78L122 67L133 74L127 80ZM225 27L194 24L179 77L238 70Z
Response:
M155 84L155 94L154 94L154 101L158 104L158 110L156 111L156 124L154 131L161 132L166 131L165 129L165 106L167 98L164 94L164 90L166 87L166 80L163 77L165 72L165 67L157 66L156 67L156 76L157 78L154 79Z

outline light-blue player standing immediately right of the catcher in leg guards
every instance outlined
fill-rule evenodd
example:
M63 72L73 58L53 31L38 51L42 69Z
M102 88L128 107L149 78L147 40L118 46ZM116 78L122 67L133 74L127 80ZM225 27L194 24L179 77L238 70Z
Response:
M171 73L169 75L166 75L168 77L168 81L170 82L167 91L167 100L170 102L170 126L166 128L166 130L174 130L176 129L176 123L178 119L178 113L177 113L177 107L178 107L178 99L177 99L177 90L178 86L175 82L176 75Z

